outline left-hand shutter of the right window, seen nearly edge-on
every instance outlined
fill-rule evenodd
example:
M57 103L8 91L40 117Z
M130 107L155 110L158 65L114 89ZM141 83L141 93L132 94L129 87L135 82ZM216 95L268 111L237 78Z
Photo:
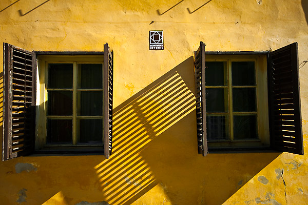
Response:
M205 111L205 44L195 51L195 83L198 152L207 155L206 111Z

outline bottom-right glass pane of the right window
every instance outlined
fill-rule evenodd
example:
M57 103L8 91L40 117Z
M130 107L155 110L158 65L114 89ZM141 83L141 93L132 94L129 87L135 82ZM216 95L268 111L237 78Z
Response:
M257 115L233 116L233 131L235 139L258 138L257 126Z

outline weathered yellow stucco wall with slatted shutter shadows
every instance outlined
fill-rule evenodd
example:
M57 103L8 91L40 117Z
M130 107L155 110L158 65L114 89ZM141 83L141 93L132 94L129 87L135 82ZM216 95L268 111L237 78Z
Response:
M114 143L108 160L1 161L0 204L308 204L308 3L205 3L1 0L0 42L44 51L102 51L109 44ZM149 51L149 30L164 31L163 51ZM192 54L201 40L206 50L224 51L298 42L304 156L197 153Z

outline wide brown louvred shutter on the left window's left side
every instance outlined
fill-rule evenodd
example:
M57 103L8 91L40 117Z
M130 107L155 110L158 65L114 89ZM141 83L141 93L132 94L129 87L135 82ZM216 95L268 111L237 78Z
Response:
M3 160L34 150L35 55L4 43Z

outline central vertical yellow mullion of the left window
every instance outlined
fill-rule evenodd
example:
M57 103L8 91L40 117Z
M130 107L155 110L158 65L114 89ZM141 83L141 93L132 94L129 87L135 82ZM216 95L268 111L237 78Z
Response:
M76 114L77 114L77 64L76 61L73 62L73 145L77 144L77 135L76 135L76 130L77 130L77 126L76 126Z

